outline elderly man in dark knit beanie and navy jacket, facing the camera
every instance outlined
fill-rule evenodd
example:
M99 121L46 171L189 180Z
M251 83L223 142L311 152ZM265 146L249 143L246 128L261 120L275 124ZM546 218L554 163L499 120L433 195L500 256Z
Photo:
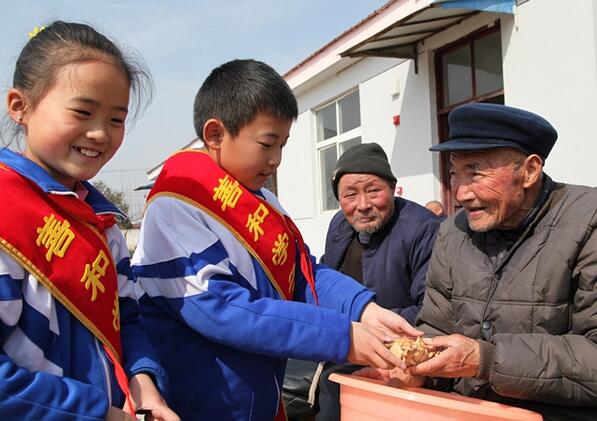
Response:
M423 303L425 274L440 219L415 202L394 197L396 177L384 150L364 143L346 150L332 173L340 211L332 219L322 263L361 282L376 302L411 323ZM320 381L316 419L338 420L338 385L328 366Z

